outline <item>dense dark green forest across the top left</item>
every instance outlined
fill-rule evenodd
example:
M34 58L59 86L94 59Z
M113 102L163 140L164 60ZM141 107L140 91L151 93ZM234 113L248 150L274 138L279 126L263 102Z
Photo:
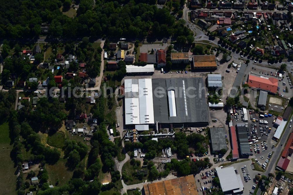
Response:
M155 0L81 0L76 1L79 6L76 16L70 18L60 9L70 8L68 0L6 1L0 8L0 37L19 40L39 37L42 24L49 25L47 35L53 37L135 39L190 35L185 21L176 20L176 14L183 14L178 0L163 8L155 3Z

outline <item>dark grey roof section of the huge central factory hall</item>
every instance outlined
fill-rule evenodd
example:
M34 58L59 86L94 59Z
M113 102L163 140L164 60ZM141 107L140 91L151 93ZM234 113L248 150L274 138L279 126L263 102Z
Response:
M182 90L183 81L186 98L184 98ZM204 87L203 79L198 77L152 79L154 121L159 121L159 123L208 123ZM157 90L159 88L161 90ZM169 117L167 90L175 90L176 117ZM185 114L185 102L187 116Z

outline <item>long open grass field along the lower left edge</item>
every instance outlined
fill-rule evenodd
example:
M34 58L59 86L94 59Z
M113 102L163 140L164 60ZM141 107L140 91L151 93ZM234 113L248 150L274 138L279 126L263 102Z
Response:
M10 158L12 150L10 141L8 122L4 122L0 125L1 194L16 194L16 175L14 175L16 168L13 167L14 163Z

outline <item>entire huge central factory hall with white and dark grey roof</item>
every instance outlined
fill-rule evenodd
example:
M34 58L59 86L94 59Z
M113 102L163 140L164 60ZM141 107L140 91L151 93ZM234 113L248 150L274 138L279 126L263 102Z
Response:
M125 125L207 125L205 93L202 78L125 79Z

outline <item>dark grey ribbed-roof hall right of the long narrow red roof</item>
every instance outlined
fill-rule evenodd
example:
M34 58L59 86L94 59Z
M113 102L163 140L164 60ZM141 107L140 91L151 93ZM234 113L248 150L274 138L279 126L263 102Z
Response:
M239 148L241 155L250 155L251 151L247 137L248 126L246 126L245 123L237 123L236 129L238 134L238 142L240 146Z

